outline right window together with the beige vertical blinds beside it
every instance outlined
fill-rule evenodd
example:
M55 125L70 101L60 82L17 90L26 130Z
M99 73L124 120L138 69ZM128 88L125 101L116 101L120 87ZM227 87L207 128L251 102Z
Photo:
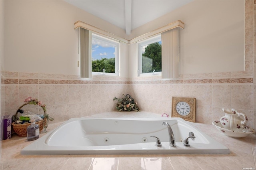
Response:
M139 76L178 78L179 28L172 28L138 43L138 59Z

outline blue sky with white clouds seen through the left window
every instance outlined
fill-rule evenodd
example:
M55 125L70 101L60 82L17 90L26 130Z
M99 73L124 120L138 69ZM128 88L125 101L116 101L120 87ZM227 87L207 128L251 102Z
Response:
M115 47L92 40L92 60L115 57Z

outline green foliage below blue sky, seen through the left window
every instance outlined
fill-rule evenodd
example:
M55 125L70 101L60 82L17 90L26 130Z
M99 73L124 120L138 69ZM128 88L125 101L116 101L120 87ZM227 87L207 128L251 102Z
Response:
M102 58L92 61L93 72L103 72L103 69L106 73L115 73L115 58Z

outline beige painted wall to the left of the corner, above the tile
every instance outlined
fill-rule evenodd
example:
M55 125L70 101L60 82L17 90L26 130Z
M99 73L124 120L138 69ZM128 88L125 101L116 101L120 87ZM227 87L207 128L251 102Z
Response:
M80 75L78 30L74 30L78 20L124 34L121 28L60 0L11 0L5 9L7 71Z

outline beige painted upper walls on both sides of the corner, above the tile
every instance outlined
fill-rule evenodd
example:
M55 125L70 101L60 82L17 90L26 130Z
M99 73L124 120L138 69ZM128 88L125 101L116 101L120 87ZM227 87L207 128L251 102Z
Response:
M5 9L6 71L80 75L78 32L73 25L78 20L128 40L182 20L180 73L244 70L244 1L195 0L129 36L64 1L12 0L6 1ZM121 77L136 77L136 46L121 47ZM122 62L126 58L129 63Z

